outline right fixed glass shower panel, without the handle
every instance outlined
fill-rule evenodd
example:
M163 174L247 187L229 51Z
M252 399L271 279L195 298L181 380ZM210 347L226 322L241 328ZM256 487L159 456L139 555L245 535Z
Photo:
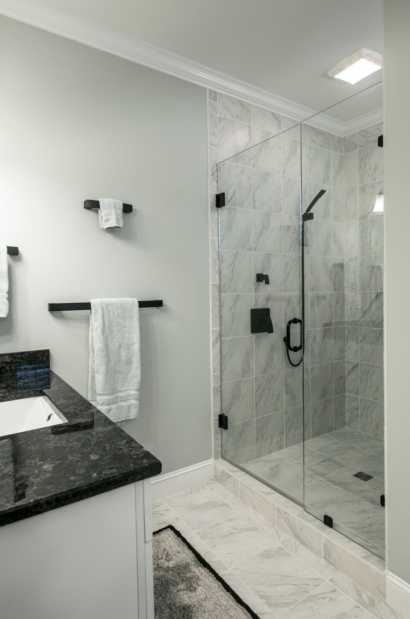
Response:
M305 509L384 556L382 85L302 123Z

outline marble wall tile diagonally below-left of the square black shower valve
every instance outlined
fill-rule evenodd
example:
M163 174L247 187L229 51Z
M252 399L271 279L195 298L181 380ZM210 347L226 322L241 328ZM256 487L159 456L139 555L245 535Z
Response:
M222 382L253 376L253 336L221 340Z

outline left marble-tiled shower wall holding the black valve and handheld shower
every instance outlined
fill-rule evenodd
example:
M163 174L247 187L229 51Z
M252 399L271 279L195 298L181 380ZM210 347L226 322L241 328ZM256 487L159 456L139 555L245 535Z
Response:
M218 214L215 208L215 193L218 191L217 163L242 152L252 144L275 136L294 124L292 119L263 108L209 92L214 457L219 457L221 450L220 430L217 428L217 415L221 408L220 329L222 355L224 351L230 355L229 351L235 349L235 356L236 348L242 349L246 340L249 340L252 348L255 342L253 350L263 353L259 355L259 363L256 363L258 353L256 354L255 363L252 361L252 368L247 368L245 373L241 374L241 363L238 360L238 372L235 370L232 376L228 376L225 371L222 378L222 408L229 417L229 430L224 431L224 454L238 463L264 456L302 440L302 369L291 368L283 355L282 343L287 320L300 315L300 180L297 178L300 171L298 167L289 171L288 152L300 152L300 143L297 141L297 138L300 138L299 126L282 138L277 136L271 139L273 149L276 142L276 151L279 144L279 162L276 157L274 165L271 165L272 160L269 161L269 157L264 163L255 165L254 157L251 157L251 152L248 151L247 154L234 158L236 163L225 162L219 166L219 191L225 191L227 199L223 217L235 222L241 220L238 228L240 234L238 241L235 241L239 245L232 248L240 251L253 249L254 256L261 259L261 264L274 260L278 267L276 269L269 264L269 269L257 269L263 272L269 270L269 290L274 290L273 293L266 293L263 284L254 285L255 274L251 274L252 280L246 284L249 289L245 287L240 293L224 286L222 282L222 324L219 315ZM370 135L371 132L367 131L362 139L371 139ZM346 374L347 384L351 384L351 367L347 364L346 368L346 350L349 348L346 347L346 342L349 342L346 337L351 337L352 334L348 331L346 335L345 301L349 314L353 301L351 293L357 292L359 314L359 285L354 290L351 290L350 284L345 287L344 202L346 181L350 183L350 177L345 181L344 147L341 137L302 125L302 167L305 170L302 183L303 209L320 189L326 189L325 196L315 206L315 220L307 224L308 241L305 244L305 253L310 254L305 264L306 290L310 291L305 304L308 329L305 355L307 438L314 438L346 425ZM361 165L367 165L366 158ZM282 173L284 171L286 174ZM351 189L350 184L346 187ZM357 185L356 190L358 193ZM269 201L264 199L267 195ZM346 212L349 204L347 201ZM269 228L279 232L279 236L276 240L271 238L273 245L268 248L255 247L255 238L260 238L261 230L267 223ZM229 226L232 228L231 222ZM253 245L250 241L249 247L242 247L242 243L246 245L246 239L253 239ZM232 251L224 250L223 240L221 249L221 259L224 261L224 254L228 256ZM264 249L265 253L261 253L261 249ZM355 255L359 269L359 248ZM352 256L348 254L348 258ZM349 274L351 269L349 262L346 273ZM362 272L364 274L364 265ZM287 277L284 277L285 274ZM274 333L269 335L269 340L266 340L266 334L250 334L249 310L253 306L271 308ZM359 323L347 324L349 327L356 327L359 337ZM238 347L235 346L237 342L240 343ZM269 347L259 345L266 342L269 342ZM299 354L295 357L299 357ZM293 360L295 361L295 358ZM350 395L347 396L348 411L352 409L353 401ZM357 404L359 408L359 403Z

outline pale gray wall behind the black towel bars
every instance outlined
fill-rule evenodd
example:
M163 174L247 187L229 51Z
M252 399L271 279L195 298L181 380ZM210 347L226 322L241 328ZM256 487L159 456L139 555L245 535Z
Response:
M48 302L164 299L142 309L141 405L126 430L163 472L211 457L206 90L0 17L0 240L10 312L0 351L48 347L87 397L89 312ZM84 199L134 212L106 232Z

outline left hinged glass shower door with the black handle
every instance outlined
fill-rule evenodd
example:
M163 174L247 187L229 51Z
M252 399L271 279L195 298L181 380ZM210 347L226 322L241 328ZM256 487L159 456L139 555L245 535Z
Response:
M253 120L254 145L218 165L222 457L303 503L300 125Z

